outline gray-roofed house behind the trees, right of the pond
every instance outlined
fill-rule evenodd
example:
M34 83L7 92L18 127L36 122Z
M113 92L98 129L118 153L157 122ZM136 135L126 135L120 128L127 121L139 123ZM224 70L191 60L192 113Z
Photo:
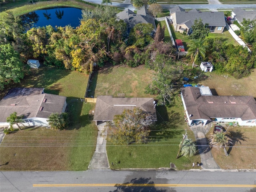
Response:
M130 9L125 9L122 12L116 14L118 20L124 20L127 23L127 32L130 33L130 30L139 23L151 23L154 27L154 32L156 32L156 24L152 14L150 14L147 8L143 7L137 11L137 14Z

